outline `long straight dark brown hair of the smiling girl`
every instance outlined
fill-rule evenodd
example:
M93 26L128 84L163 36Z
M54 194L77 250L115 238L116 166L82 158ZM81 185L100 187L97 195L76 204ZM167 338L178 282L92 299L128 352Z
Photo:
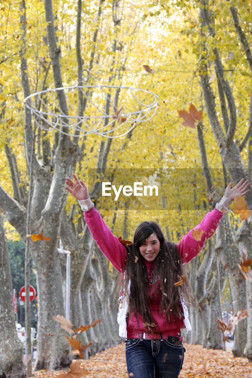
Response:
M127 246L127 263L126 274L124 275L125 287L128 287L129 280L131 281L130 295L129 295L129 314L134 313L137 321L139 316L144 322L152 324L150 309L150 296L148 285L148 272L145 260L140 254L139 247L151 236L156 233L160 242L160 251L154 260L155 272L154 277L160 278L156 290L161 291L160 312L165 314L168 322L171 317L181 318L182 314L179 309L179 289L174 284L181 280L181 277L186 278L185 282L179 287L188 298L191 297L191 287L188 282L187 273L183 266L179 251L175 243L169 242L165 239L160 226L156 222L142 222L137 226L132 245ZM137 262L135 258L138 257ZM139 324L139 323L138 323Z

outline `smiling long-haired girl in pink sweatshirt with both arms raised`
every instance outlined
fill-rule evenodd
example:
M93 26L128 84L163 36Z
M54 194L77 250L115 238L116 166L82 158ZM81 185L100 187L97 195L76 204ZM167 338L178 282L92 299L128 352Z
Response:
M215 209L194 228L202 231L201 240L195 240L191 230L179 243L172 243L156 222L142 222L132 243L124 245L94 208L85 183L75 174L73 178L75 183L67 178L66 189L79 201L93 239L122 274L118 323L119 335L126 338L129 376L177 378L185 352L180 330L191 330L184 300L184 294L190 296L184 265L213 235L234 198L249 191L248 181L227 186Z

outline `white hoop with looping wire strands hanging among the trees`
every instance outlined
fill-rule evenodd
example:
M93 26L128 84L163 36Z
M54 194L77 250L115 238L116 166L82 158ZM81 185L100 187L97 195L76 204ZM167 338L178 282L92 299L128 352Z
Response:
M106 92L106 89L109 93ZM118 91L118 95L120 95L122 91L129 91L130 96L120 98L123 105L122 114L125 119L121 123L116 123L115 113L118 111L118 107L116 107L111 100L110 92L112 89ZM69 114L62 112L59 107L57 95L58 91L62 90L64 91ZM86 111L93 115L78 115L78 111L76 111L73 106L73 101L78 101L78 96L76 96L78 91L81 91L84 101L86 102ZM112 115L109 114L109 112L106 113L106 110L102 110L95 101L98 99L98 101L100 100L99 102L101 102L102 96L105 96L102 101L105 101L108 108L113 107ZM143 98L147 98L147 100L151 98L152 101L148 104L146 103L147 100L145 101ZM76 85L33 93L24 99L24 104L25 107L31 111L34 122L43 130L58 130L59 132L71 136L74 133L78 133L80 136L97 134L107 138L118 138L131 131L136 122L149 121L156 113L158 101L159 97L155 93L140 88L116 85ZM37 108L38 103L42 106L42 110ZM130 107L131 110L124 111L124 106L126 109ZM124 127L122 127L122 125L125 126L126 124L130 124L128 129L118 135L118 130L123 129ZM68 132L62 130L62 128L65 127L68 128ZM116 135L112 135L114 133L116 133Z

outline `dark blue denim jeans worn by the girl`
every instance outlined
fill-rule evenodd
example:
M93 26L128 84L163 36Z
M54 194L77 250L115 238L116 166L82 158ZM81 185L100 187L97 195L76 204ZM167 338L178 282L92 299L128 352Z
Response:
M125 352L129 377L177 378L184 361L182 341L126 339Z

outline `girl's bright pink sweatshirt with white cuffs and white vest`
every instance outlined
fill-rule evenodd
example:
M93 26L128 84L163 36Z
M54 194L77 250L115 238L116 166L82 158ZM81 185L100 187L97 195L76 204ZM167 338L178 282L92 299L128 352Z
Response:
M201 221L201 223L194 227L194 230L199 228L203 232L200 241L197 241L193 238L191 230L188 232L187 235L184 235L182 237L179 243L176 244L183 263L187 263L191 259L193 259L193 257L195 257L203 248L205 240L209 239L213 235L221 221L223 214L227 212L227 207L231 203L231 201L227 200L229 201L227 205L226 200L226 197L223 197L221 202L216 204L216 208L213 209L212 212L208 212ZM81 202L84 201L79 202L81 204ZM89 211L84 211L84 217L87 226L93 236L93 239L95 240L103 254L118 271L124 273L124 267L127 259L126 247L118 240L117 237L115 237L112 234L104 220L101 218L100 213L95 208L92 208ZM161 293L159 293L158 296L156 295L154 285L155 282L159 280L159 277L154 277L154 262L145 261L145 263L148 270L148 276L150 277L149 285L151 294L152 317L156 325L155 327L152 327L152 331L157 333L174 331L174 335L177 335L178 333L180 333L181 328L187 327L188 330L191 330L190 323L188 321L188 311L185 302L185 308L183 305L184 320L183 318L174 319L174 317L172 317L171 321L168 323L166 318L162 316L162 314L159 311ZM136 333L145 333L146 327L143 327L143 321L141 317L139 319L139 326L137 324L137 319L134 314L128 317L127 293L120 293L120 297L121 298L118 310L118 323L120 325L119 335L124 338L134 338L134 334Z

